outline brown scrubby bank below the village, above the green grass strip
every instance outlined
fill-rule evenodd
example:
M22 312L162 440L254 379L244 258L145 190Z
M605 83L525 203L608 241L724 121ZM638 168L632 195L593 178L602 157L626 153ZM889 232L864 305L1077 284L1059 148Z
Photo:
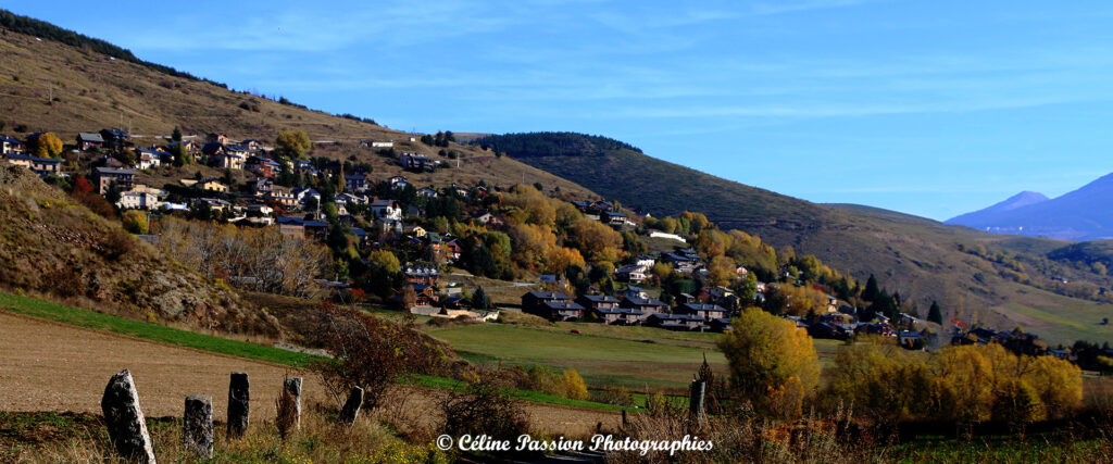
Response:
M90 309L277 336L278 322L93 215L22 167L0 165L0 283Z

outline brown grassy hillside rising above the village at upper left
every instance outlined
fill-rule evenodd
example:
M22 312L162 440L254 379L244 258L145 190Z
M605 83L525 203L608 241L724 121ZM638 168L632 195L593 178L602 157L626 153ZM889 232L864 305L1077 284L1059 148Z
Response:
M69 37L65 34L68 31L42 24L46 30ZM62 141L73 144L79 131L122 127L130 129L137 146L146 147L165 142L162 138L176 126L187 136L204 138L207 132L223 132L235 140L270 144L279 131L303 130L317 142L312 156L367 162L373 167L372 178L376 179L401 174L418 187L475 185L480 180L501 186L540 182L550 190L559 187L565 192L594 197L575 184L493 152L452 144L443 149L456 151L459 158L449 159L437 155L441 147L410 141L421 135L393 130L351 115L309 110L285 99L278 99L283 101L279 102L230 91L166 67L116 59L97 51L111 51L110 45L73 47L49 38L37 40L2 27L0 31L0 55L4 57L0 60L0 112L3 113L0 134L22 138L30 132L53 131ZM114 55L122 57L122 52ZM452 167L435 172L404 172L394 159L362 147L361 140L394 140L398 152L425 154ZM161 186L195 170L186 174L169 169L141 176L141 180Z

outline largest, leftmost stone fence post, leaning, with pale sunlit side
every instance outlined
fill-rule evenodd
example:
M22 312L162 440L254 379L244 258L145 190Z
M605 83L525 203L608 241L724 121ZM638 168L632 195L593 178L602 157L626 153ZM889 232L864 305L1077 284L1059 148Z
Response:
M105 413L108 436L116 452L128 461L154 464L155 448L147 433L147 419L139 408L139 393L131 372L124 369L108 381L100 409Z

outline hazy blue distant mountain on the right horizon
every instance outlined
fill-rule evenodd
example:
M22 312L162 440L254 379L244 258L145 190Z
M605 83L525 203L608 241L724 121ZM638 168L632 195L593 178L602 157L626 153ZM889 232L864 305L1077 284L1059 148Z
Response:
M1101 240L1113 238L1110 205L1113 205L1113 174L1054 199L1022 192L979 211L952 218L947 224L994 234Z

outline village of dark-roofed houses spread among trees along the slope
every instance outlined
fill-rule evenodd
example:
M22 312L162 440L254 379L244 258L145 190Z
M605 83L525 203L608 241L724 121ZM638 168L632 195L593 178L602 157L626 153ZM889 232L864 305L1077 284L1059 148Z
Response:
M742 309L768 306L767 293L774 292L782 295L784 303L778 304L786 308L794 305L794 296L812 300L806 313L785 310L780 315L816 338L876 335L896 338L899 346L908 349L948 343L997 343L1016 353L1076 358L1070 349L1050 347L1037 335L1018 329L968 327L953 319L949 332L945 332L943 320L928 320L936 316L925 319L900 310L864 310L806 282L789 266L778 268L776 275L764 276L768 282L758 280L737 264L730 265L726 280L710 278L708 257L693 249L684 237L673 230L644 227L646 219L651 218L648 214L639 215L601 199L572 198L568 204L582 217L609 229L671 243L671 249L632 249L605 278L597 276L588 285L572 282L564 273L532 273L533 280L514 284L525 290L520 304L491 302L481 286L465 288L451 278L467 274L456 266L461 266L467 249L482 247L482 240L454 235L446 223L432 220L451 210L449 216L454 219L496 230L503 228L508 221L505 211L500 213L493 206L494 196L504 192L504 188L482 181L470 186L416 186L401 175L376 178L370 165L353 162L354 158L339 161L306 157L313 144L304 134L301 136L301 140L284 141L285 147L274 147L225 134L183 136L176 129L173 136L161 138L162 144L137 147L127 131L102 129L79 132L72 144L65 145L50 132L31 134L24 140L0 136L0 142L8 162L23 166L50 184L86 186L121 211L144 211L148 227L151 216L180 216L240 227L276 227L284 236L326 243L331 224L336 223L344 227L345 235L354 237L353 245L362 253L385 249L398 255L398 274L404 277L391 283L382 303L412 314L483 323L498 319L500 312L511 312L550 322L721 333L731 329L732 318ZM434 146L447 146L450 140L452 132L421 138L422 142ZM376 155L390 156L406 171L427 172L445 165L417 152L395 152L393 140L363 140L359 145ZM63 147L69 149L65 158ZM195 176L162 186L139 180L144 174L162 167L176 166L188 171L194 162L224 175L205 177L198 170ZM313 186L328 188L321 191ZM146 229L132 231L145 239L158 240L157 236L147 235ZM367 263L367 258L361 259ZM668 273L679 276L686 285L661 288L658 265L666 266ZM450 269L455 273L446 275ZM716 279L731 285L719 285ZM603 288L591 285L598 282L605 282ZM659 287L643 288L647 282ZM358 299L364 294L353 278L317 278L316 283L341 300ZM791 293L801 287L807 287L802 288L807 293ZM1101 354L1113 355L1113 349L1105 346Z

